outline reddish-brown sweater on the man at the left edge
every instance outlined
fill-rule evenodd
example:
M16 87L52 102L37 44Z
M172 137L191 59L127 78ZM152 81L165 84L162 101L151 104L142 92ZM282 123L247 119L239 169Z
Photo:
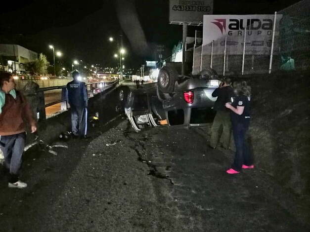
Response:
M16 100L5 94L0 114L0 135L15 135L26 131L26 123L35 126L37 121L25 96L16 90Z

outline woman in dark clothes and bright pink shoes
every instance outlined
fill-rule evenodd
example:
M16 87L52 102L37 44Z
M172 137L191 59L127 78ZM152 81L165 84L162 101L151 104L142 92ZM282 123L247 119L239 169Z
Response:
M227 102L225 107L231 110L230 118L234 137L236 154L228 174L239 173L242 168L254 168L252 156L249 153L245 135L250 124L251 86L246 81L237 81L233 85L235 98Z

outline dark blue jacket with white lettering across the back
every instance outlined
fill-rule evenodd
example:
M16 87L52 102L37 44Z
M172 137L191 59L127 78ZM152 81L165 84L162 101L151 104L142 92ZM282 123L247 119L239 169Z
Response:
M67 89L70 106L88 107L88 95L85 82L72 80L67 83Z

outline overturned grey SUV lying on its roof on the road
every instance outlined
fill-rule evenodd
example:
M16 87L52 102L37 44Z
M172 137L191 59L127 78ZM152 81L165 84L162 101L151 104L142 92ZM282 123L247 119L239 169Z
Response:
M221 79L213 69L202 70L197 76L180 76L173 67L163 67L158 82L130 90L122 86L119 100L133 129L144 127L205 126L213 117L217 98L212 92Z

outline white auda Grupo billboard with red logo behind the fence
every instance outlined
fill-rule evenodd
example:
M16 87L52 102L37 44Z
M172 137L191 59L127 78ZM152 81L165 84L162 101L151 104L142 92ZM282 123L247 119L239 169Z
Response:
M282 15L277 15L277 24ZM273 14L261 15L204 15L203 45L211 46L213 54L222 54L225 46L229 54L243 54L244 34L246 30L245 54L270 54L273 30ZM276 32L275 36L278 35ZM275 37L277 39L277 37ZM275 45L278 44L275 42ZM211 49L206 49L210 51ZM278 47L275 47L276 52Z

